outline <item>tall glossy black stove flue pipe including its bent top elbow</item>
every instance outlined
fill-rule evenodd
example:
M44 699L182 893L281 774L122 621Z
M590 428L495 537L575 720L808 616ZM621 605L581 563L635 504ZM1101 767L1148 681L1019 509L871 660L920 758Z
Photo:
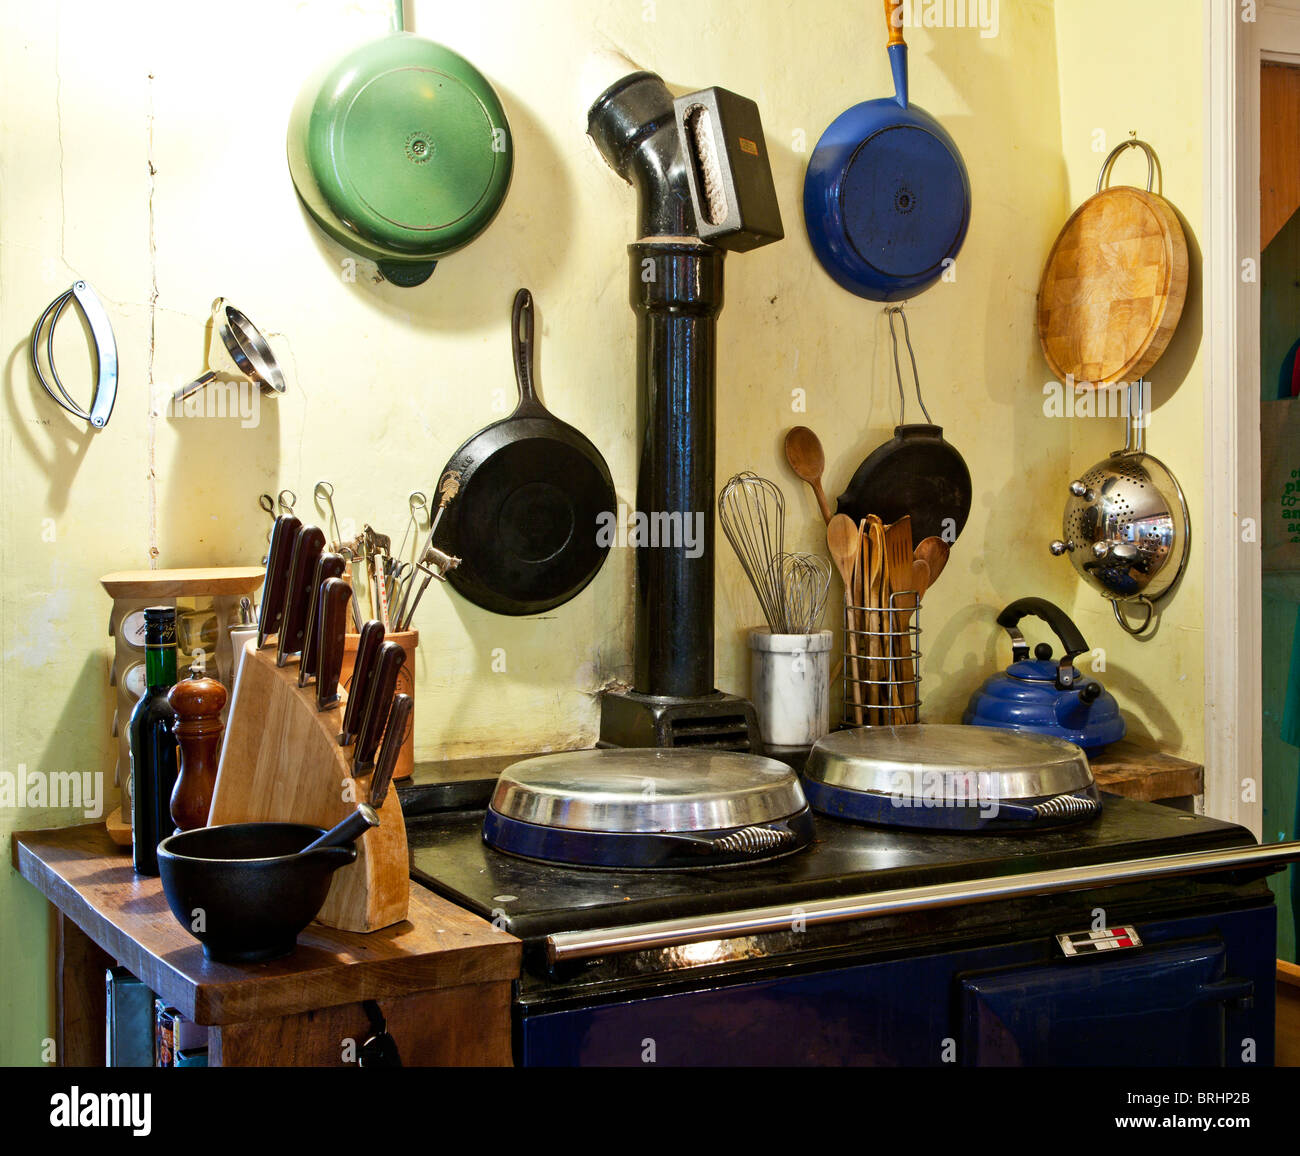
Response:
M696 237L688 153L659 77L633 73L608 88L592 107L588 133L637 190L641 231L628 246L637 315L637 511L660 536L670 528L675 534L637 549L633 689L699 698L715 693L715 365L725 254Z

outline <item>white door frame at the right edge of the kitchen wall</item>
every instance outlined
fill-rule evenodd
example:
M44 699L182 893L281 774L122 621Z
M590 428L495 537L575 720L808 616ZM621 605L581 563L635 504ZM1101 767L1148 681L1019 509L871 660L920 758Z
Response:
M1256 837L1264 818L1258 542L1264 60L1300 62L1300 0L1205 0L1205 527L1200 534L1206 544L1205 810L1249 827ZM1245 533L1247 519L1253 534Z

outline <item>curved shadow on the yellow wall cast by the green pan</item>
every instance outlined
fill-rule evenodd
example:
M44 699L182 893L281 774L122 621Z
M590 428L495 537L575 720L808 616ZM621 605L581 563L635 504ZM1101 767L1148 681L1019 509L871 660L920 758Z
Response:
M384 280L373 261L328 237L298 199L303 229L321 254L321 265L304 270L304 276L339 277L344 270L355 270L356 285L365 289L358 299L367 308L429 333L456 334L494 329L500 320L500 303L515 286L528 285L534 295L545 298L547 289L563 281L566 239L576 229L576 199L564 157L551 147L545 126L524 101L497 81L491 86L510 122L515 169L506 199L488 228L464 248L438 261L422 285L403 289ZM287 169L285 179L290 179ZM554 259L525 265L524 255L532 247L529 235L538 231L555 238L547 250Z

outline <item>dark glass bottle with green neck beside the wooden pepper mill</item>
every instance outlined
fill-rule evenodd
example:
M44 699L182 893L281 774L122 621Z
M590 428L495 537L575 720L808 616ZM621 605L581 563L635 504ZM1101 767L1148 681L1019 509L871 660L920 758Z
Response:
M157 845L173 831L176 788L176 714L168 690L176 684L176 610L144 611L144 683L130 720L131 861L138 875L157 875Z

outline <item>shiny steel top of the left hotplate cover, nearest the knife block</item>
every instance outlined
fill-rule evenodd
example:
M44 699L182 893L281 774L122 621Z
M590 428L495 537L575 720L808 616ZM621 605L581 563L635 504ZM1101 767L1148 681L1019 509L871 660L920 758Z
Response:
M491 809L569 831L722 831L803 810L784 763L722 750L568 750L507 767Z

